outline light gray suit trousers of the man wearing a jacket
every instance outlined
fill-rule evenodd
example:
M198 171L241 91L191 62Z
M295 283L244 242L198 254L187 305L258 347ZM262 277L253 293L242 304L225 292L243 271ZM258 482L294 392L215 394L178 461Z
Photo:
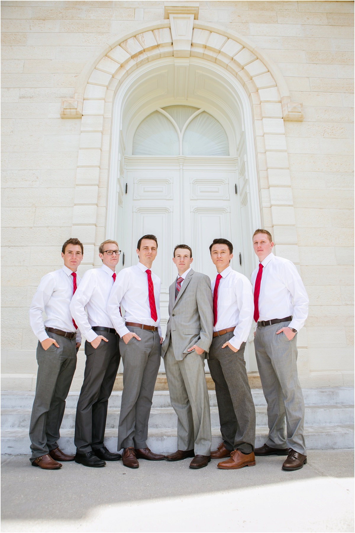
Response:
M204 360L195 351L182 360L175 359L172 343L164 356L170 402L178 417L178 450L195 450L210 455L211 415Z

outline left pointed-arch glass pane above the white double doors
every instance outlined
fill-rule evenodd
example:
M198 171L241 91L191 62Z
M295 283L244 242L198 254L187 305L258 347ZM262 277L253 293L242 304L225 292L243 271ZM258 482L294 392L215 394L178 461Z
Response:
M179 138L174 124L159 111L148 115L133 138L134 156L178 156Z

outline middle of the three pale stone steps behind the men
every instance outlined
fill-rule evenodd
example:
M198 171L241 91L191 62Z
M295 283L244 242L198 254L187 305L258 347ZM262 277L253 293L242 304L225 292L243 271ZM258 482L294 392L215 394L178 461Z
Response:
M257 415L257 426L267 425L266 406L255 407ZM76 409L65 409L62 429L71 429L75 425ZM118 427L120 409L108 410L106 421L107 429ZM31 409L2 409L1 426L2 429L25 429L29 427ZM305 425L330 425L330 424L353 424L353 406L333 405L333 406L306 406L304 415ZM219 427L218 408L211 407L211 426ZM152 408L149 418L151 429L174 429L177 427L177 416L172 407Z

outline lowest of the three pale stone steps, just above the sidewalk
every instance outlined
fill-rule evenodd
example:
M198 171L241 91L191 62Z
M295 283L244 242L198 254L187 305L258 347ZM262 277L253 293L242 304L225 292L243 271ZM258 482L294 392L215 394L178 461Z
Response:
M262 446L268 435L268 427L257 427L255 447ZM317 425L305 426L304 438L307 449L346 449L354 446L354 426ZM221 442L220 431L212 429L212 450ZM111 451L117 448L117 429L108 429L105 433L105 445ZM19 429L4 429L1 435L2 454L28 455L30 454L30 440L28 431ZM61 430L60 448L65 453L75 453L74 431ZM172 453L177 449L176 429L150 429L148 431L147 446L155 453ZM257 458L257 461L262 461Z

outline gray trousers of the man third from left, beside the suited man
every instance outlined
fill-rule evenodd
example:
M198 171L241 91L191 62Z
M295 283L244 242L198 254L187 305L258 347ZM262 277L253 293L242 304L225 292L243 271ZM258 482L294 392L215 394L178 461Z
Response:
M147 447L148 420L156 376L160 366L161 345L158 332L128 326L141 338L128 344L120 338L123 361L123 391L118 424L117 450Z

